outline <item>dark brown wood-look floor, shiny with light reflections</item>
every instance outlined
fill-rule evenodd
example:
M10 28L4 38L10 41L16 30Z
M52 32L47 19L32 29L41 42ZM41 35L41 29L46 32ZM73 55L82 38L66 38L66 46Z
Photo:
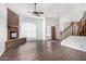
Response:
M86 52L63 47L60 40L40 40L8 50L1 57L10 61L85 61Z

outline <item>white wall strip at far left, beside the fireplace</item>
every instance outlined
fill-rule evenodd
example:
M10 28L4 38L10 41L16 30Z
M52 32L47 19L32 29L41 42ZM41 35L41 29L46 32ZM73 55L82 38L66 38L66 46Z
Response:
M7 36L7 8L0 4L0 55L5 49Z

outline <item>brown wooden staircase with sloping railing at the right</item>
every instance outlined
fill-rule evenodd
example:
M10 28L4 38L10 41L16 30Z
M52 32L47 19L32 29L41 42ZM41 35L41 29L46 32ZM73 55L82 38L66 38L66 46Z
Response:
M77 26L77 30L75 26ZM86 21L72 22L71 25L61 33L61 39L65 39L69 36L86 36Z

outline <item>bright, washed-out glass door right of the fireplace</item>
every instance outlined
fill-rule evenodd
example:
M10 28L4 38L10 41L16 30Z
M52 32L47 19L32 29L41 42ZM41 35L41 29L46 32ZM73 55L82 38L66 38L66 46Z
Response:
M27 38L27 41L36 40L36 34L37 34L36 23L24 22L22 23L21 28L22 28L22 35Z

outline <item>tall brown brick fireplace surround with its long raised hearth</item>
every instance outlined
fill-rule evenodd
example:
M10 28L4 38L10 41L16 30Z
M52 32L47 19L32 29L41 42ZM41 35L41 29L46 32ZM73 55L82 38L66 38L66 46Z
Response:
M26 42L26 38L19 37L19 15L8 9L8 41L5 42L5 50ZM13 37L12 34L15 34L16 36Z

